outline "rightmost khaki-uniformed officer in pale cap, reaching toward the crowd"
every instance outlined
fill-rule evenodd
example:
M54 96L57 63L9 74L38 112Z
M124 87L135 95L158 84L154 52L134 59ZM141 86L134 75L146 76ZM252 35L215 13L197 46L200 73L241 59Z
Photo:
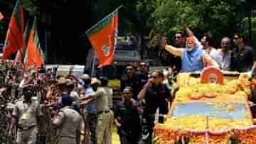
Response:
M97 108L97 126L96 126L96 138L97 144L109 144L111 143L110 138L110 126L112 123L110 109L108 107L107 91L104 87L100 86L100 80L92 78L91 86L93 89L97 89L96 92L92 93L92 101L96 102Z

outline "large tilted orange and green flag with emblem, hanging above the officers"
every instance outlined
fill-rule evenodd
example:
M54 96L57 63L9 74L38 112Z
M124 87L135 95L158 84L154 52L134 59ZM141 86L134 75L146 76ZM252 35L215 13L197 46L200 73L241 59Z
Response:
M117 43L118 9L106 16L86 32L99 60L99 68L114 63L114 48Z

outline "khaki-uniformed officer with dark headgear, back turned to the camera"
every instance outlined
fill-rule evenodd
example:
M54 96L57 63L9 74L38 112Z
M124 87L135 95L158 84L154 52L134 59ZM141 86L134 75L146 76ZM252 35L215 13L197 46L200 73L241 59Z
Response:
M57 143L79 144L82 117L72 109L73 99L70 95L63 95L61 103L63 108L53 118L53 125L57 126Z

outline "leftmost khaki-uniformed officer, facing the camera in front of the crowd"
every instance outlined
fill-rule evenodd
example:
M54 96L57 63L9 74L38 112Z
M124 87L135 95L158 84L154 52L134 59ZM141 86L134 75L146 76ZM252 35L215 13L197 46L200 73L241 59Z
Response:
M11 118L11 127L9 129L9 135L11 135L11 129L14 125L17 126L17 144L34 144L36 143L36 135L38 133L38 118L43 116L40 104L37 101L31 99L36 95L36 91L33 85L29 84L22 87L23 99L16 102L14 111Z

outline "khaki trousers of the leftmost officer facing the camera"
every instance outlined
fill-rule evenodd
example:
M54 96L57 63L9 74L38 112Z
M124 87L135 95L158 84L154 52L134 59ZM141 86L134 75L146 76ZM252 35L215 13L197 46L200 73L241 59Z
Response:
M36 134L38 133L38 128L34 126L28 130L19 130L17 131L17 144L35 144L36 143Z

